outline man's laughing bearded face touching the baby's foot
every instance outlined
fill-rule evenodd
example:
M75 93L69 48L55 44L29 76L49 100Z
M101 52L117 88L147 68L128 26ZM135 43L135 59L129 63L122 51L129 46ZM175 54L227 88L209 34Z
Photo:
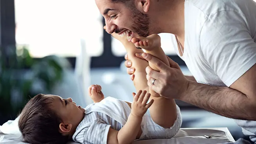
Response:
M100 13L106 22L106 31L111 34L125 34L128 41L137 36L148 36L150 18L139 11L131 0L129 5L111 0L95 0Z

